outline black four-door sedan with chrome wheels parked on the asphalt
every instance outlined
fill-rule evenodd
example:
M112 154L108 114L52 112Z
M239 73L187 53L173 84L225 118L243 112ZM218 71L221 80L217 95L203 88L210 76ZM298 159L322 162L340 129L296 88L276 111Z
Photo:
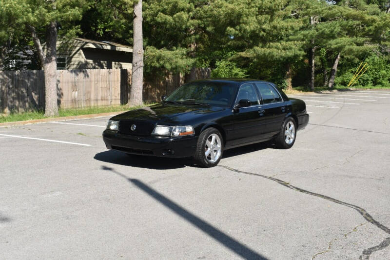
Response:
M210 79L186 83L162 102L111 118L108 149L130 155L194 157L213 167L226 149L274 140L288 149L309 122L306 104L271 82Z

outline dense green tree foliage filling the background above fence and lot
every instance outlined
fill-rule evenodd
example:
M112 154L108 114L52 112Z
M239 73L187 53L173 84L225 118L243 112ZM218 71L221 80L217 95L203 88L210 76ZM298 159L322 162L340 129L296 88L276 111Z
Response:
M2 69L39 69L26 22L42 42L54 17L61 37L133 43L133 0L52 0L50 12L47 2L0 0ZM389 0L144 0L145 77L211 67L216 78L307 88L314 50L315 87L327 86L338 53L335 87L362 61L369 69L355 86L389 87L389 28Z

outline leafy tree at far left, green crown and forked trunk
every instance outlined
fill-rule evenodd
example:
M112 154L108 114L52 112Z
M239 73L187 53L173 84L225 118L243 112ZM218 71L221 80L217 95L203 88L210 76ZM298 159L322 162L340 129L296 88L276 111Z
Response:
M81 19L86 4L82 0L0 0L2 27L12 35L33 41L45 75L45 116L58 115L57 37L78 30L74 20ZM45 42L46 53L42 42Z

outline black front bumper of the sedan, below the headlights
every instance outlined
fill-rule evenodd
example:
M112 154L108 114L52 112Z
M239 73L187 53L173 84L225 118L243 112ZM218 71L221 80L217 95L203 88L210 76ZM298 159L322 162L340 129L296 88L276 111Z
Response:
M197 137L141 137L106 129L103 132L103 140L107 149L127 154L182 158L194 156Z

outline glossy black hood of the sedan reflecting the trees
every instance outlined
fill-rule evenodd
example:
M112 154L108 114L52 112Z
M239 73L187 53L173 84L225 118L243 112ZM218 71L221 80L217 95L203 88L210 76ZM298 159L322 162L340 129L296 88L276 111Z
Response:
M226 108L200 105L156 104L131 110L113 117L111 120L141 120L156 123L180 124L202 115L222 111Z

